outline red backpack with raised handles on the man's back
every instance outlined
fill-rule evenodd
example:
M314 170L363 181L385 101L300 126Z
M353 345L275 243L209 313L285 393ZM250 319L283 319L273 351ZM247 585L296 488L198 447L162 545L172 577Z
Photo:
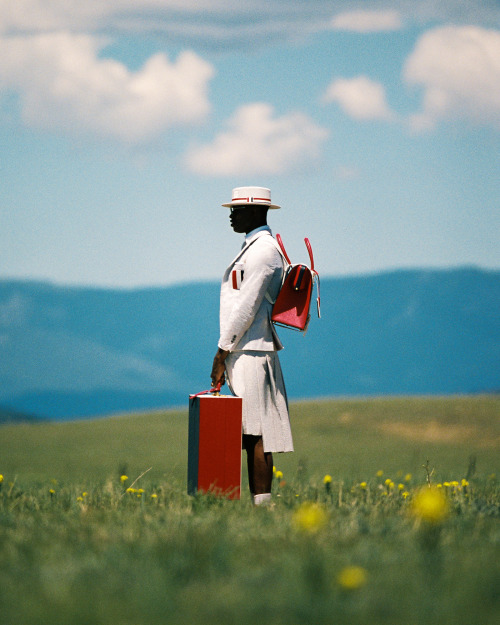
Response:
M299 330L305 334L311 318L309 309L311 306L311 296L314 283L316 283L316 290L318 293L316 298L318 318L321 318L319 274L314 269L312 247L309 239L305 238L304 242L306 244L307 251L309 252L309 258L311 259L311 267L309 268L307 265L292 264L279 234L276 235L276 241L278 242L280 248L279 251L288 266L285 269L283 284L276 301L273 302L266 293L268 301L273 304L271 321L276 325L291 328L292 330Z

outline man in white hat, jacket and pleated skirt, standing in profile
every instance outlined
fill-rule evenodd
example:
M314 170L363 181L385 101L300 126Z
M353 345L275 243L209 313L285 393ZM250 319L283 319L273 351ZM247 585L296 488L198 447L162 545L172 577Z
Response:
M282 282L283 260L267 225L271 192L233 189L233 230L244 233L241 251L224 273L220 296L220 338L211 373L213 386L227 379L243 398L243 448L256 505L269 503L273 452L293 451L288 402L277 351L283 346L271 323L272 303Z

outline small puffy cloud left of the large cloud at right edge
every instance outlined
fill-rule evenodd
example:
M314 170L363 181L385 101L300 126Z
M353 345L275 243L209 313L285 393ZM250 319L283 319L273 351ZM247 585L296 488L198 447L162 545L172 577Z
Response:
M336 102L350 117L359 120L390 120L384 87L366 76L338 78L327 88L323 102Z

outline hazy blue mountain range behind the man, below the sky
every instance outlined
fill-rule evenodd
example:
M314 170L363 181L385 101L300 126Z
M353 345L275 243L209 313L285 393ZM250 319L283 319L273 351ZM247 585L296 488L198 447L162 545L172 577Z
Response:
M290 399L500 390L500 271L327 278L321 304L305 337L279 331ZM215 282L0 281L0 420L187 405L210 385L218 306Z

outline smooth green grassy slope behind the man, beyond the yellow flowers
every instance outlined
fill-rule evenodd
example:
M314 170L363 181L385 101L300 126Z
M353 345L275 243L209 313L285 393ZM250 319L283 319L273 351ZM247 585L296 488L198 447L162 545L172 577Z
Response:
M380 397L292 402L295 452L275 454L285 475L328 473L363 480L378 470L439 479L500 470L500 396ZM119 472L183 485L188 412L154 411L95 420L0 426L0 473L18 482L105 480ZM244 464L244 463L243 463ZM458 478L457 478L458 479ZM243 490L245 490L245 484Z

